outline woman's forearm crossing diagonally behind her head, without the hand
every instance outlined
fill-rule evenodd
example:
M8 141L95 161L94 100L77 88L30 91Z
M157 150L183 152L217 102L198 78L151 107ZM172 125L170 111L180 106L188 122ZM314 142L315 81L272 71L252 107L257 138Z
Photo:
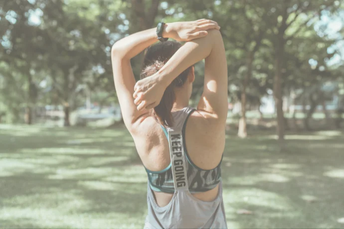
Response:
M215 36L221 36L216 29L208 31L205 37L186 42L158 72L161 80L170 85L185 69L208 57L215 45Z

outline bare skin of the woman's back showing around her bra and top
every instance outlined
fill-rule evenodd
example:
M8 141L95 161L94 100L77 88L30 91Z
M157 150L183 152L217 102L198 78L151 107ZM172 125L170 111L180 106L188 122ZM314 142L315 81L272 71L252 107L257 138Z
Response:
M152 117L147 117L145 122L150 123L151 128L141 141L135 141L138 152L144 166L151 171L162 171L171 163L169 142L163 128ZM219 130L216 120L204 117L201 112L194 111L190 114L185 127L186 150L190 160L200 169L214 169L221 161L225 144L225 132ZM149 127L149 126L147 126ZM144 144L142 144L145 142ZM202 201L212 201L216 198L218 186L212 190L192 193ZM160 207L170 203L173 194L154 192L157 204Z

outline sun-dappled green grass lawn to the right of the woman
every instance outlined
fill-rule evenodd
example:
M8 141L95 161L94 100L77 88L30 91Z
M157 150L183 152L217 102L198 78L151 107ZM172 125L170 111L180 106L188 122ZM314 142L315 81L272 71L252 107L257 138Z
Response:
M222 164L228 220L242 228L344 228L337 223L344 212L344 137L298 135L284 153L270 133L228 137Z

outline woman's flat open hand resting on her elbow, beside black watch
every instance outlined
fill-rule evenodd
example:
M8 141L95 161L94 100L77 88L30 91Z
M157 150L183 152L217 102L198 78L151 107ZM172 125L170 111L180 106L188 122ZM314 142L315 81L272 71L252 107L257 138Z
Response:
M220 29L217 22L208 19L195 21L172 22L165 25L163 37L172 38L177 41L190 41L204 37L209 29Z

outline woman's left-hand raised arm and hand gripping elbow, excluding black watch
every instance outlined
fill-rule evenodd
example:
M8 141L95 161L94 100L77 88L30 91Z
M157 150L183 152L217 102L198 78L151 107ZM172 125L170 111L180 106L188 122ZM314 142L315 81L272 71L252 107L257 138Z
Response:
M163 37L179 41L187 41L207 35L206 30L217 28L218 25L210 20L197 20L187 22L173 22L166 24ZM122 116L127 128L133 130L133 124L139 117L147 114L142 109L138 111L134 104L134 86L136 83L130 59L138 55L148 46L157 41L156 29L134 33L117 41L111 50L112 69L117 97L121 106Z

